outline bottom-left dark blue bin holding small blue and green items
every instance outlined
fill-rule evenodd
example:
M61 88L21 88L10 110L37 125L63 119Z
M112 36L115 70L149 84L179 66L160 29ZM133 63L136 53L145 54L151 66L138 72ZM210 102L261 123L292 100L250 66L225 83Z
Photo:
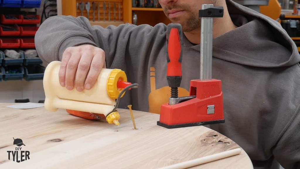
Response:
M7 66L4 67L4 81L7 80L22 80L24 76L23 66Z

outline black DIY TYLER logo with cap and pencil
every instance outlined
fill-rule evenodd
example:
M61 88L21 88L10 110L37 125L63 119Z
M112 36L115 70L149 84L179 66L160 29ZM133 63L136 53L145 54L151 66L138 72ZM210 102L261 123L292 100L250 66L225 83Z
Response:
M11 156L13 158L13 161L16 161L16 162L22 162L22 161L25 161L25 160L29 160L29 151L21 151L22 147L21 146L26 146L22 139L14 139L13 138L13 145L17 145L18 147L15 148L15 151L7 151L8 152L8 160L10 160ZM20 150L20 151L19 151ZM21 159L19 159L19 156L18 154L21 154Z

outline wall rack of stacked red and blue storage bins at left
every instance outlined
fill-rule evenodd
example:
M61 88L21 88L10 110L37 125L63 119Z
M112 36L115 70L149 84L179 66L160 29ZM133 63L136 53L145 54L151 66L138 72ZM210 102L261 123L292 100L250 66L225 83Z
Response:
M41 0L0 0L0 81L41 80L44 77L42 60L27 58L24 51L35 49L34 36L40 24L36 8ZM17 51L21 57L13 59L5 49Z

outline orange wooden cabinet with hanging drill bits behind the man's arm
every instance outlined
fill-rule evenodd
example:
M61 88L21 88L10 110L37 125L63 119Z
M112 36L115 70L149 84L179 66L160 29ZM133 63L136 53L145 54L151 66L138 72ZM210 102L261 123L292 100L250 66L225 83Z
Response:
M61 9L62 15L71 15L74 17L81 16L81 11L76 8L76 3L86 3L87 1L76 1L76 0L61 0ZM89 1L92 3L92 1ZM94 2L94 1L93 1ZM106 0L106 13L105 13L105 21L104 21L104 10L103 10L103 2L104 0L95 0L100 9L100 21L98 21L98 8L95 11L95 21L93 21L93 10L90 8L89 10L89 20L91 25L100 25L103 27L107 27L108 25L118 26L122 23L133 23L132 22L132 12L137 14L137 25L141 24L149 24L156 25L158 23L171 23L170 20L165 16L162 8L133 8L131 0ZM110 10L108 3L110 2ZM114 3L116 3L116 21L114 21ZM119 12L119 4L120 4L120 12ZM90 4L92 7L92 4ZM108 11L110 11L110 22L108 22ZM120 13L120 21L119 21L119 13ZM87 11L83 10L83 16L87 17Z

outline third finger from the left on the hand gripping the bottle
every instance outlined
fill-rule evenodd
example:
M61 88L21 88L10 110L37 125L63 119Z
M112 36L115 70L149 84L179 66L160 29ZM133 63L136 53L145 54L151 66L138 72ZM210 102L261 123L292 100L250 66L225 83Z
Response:
M92 52L87 52L85 54L82 54L82 57L78 64L76 79L75 79L75 86L77 91L82 91L84 89L85 78L90 69L92 58L93 58Z

